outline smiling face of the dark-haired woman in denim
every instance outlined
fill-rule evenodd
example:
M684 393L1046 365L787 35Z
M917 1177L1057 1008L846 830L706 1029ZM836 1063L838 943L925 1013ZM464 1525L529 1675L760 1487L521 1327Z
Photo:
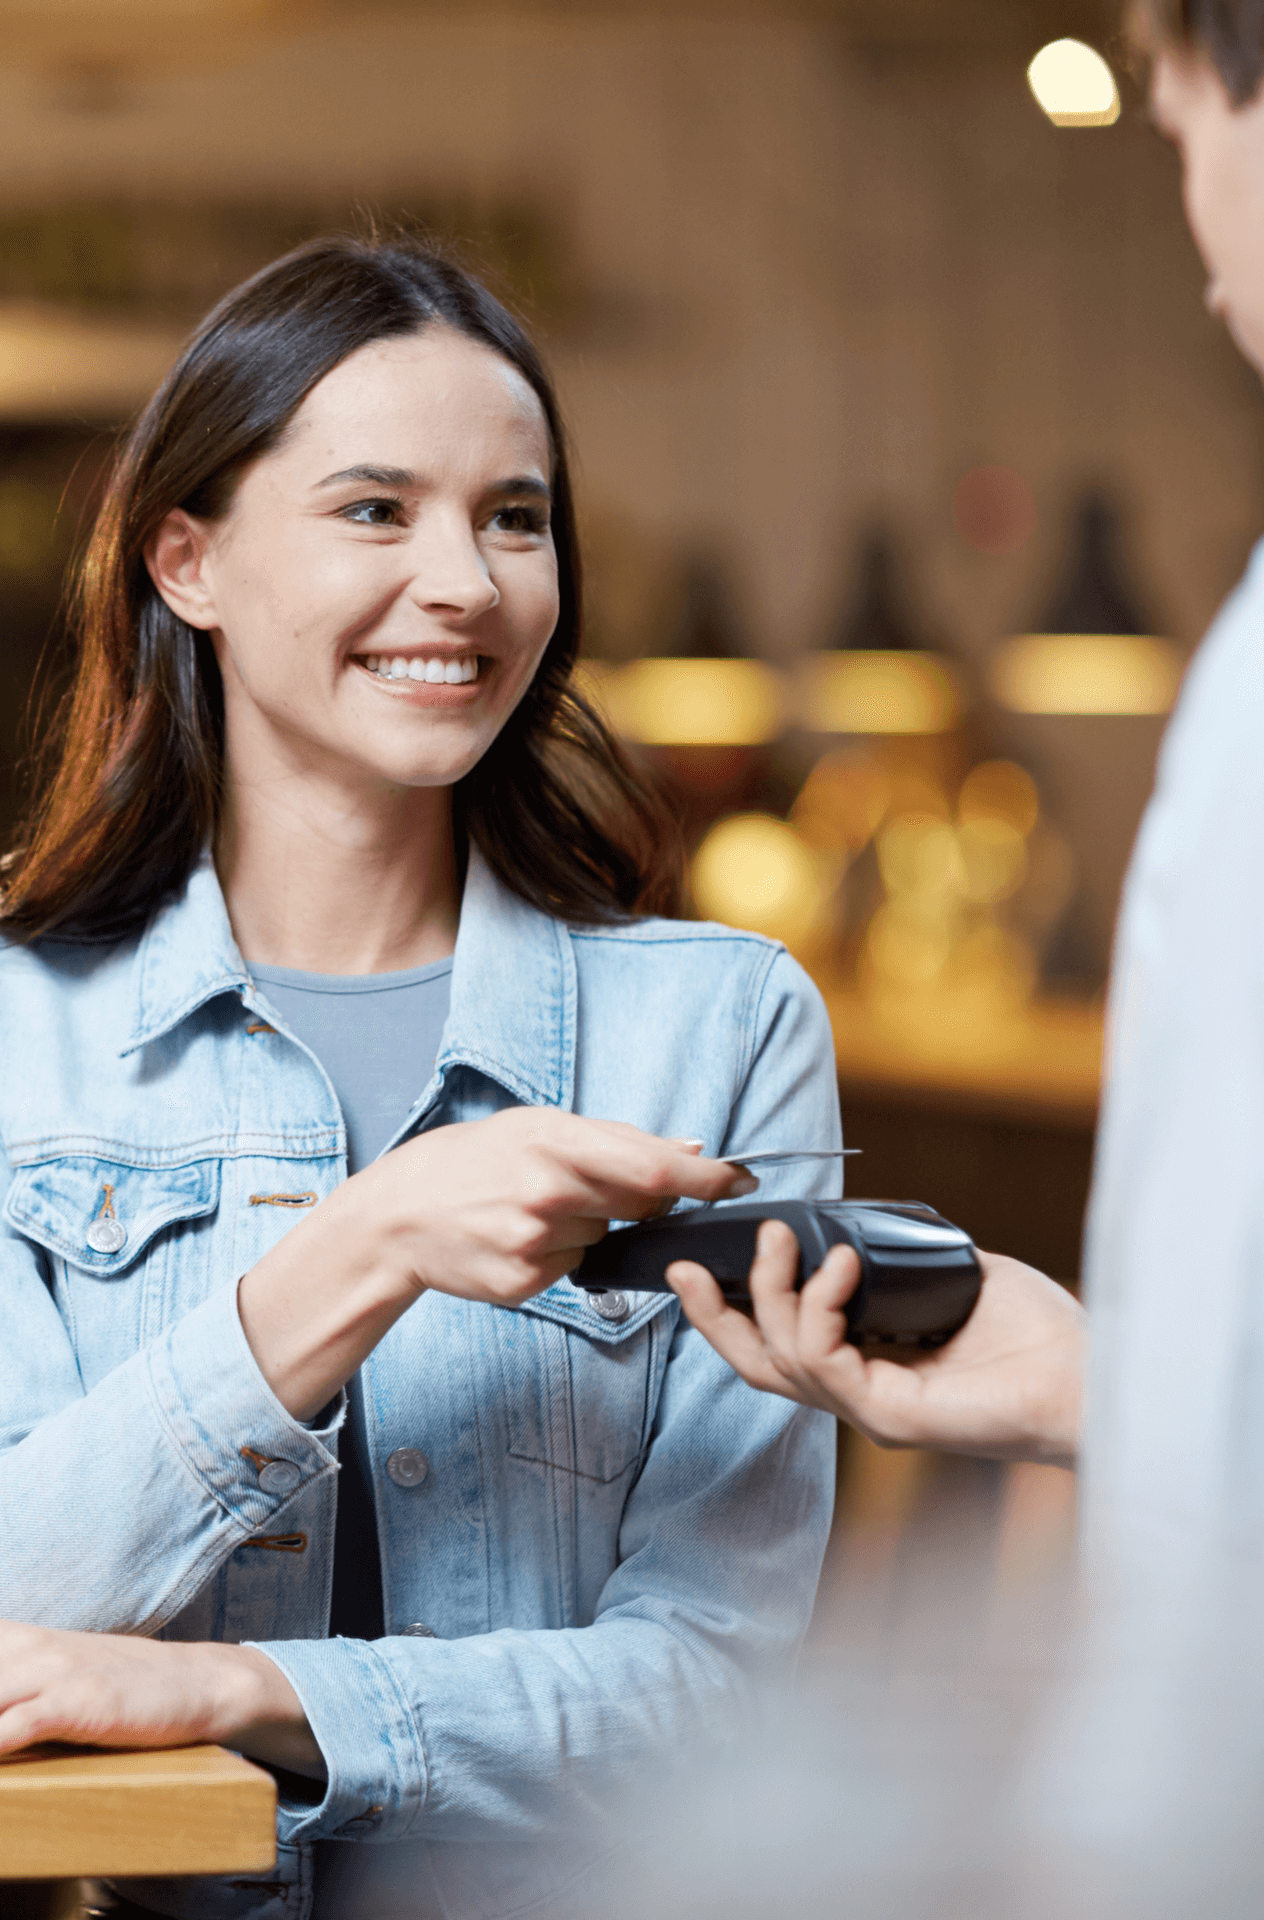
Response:
M236 780L448 787L488 751L557 624L544 409L446 326L361 348L229 513L146 555L209 630Z

